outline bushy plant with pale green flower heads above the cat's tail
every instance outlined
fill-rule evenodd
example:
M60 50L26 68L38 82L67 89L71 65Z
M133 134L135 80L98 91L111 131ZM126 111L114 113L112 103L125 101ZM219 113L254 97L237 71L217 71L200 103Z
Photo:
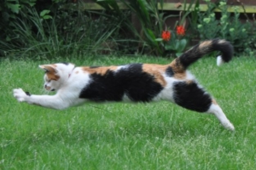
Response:
M197 31L201 40L223 38L234 45L236 51L244 51L250 45L250 32L252 24L249 21L242 23L240 13L234 7L234 15L228 12L226 1L218 3L207 2L207 11L199 13ZM221 17L216 18L215 9L219 9ZM193 25L192 25L193 26Z

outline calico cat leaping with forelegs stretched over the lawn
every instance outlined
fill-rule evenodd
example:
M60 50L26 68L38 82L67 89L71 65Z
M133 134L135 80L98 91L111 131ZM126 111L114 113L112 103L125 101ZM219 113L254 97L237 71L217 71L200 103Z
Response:
M211 51L221 51L217 65L229 62L233 46L226 40L206 40L195 45L170 64L127 64L82 66L71 63L40 65L45 71L44 87L55 95L32 95L13 90L19 102L46 108L65 109L93 102L150 102L167 100L189 110L212 113L222 126L234 130L217 102L197 83L187 68Z

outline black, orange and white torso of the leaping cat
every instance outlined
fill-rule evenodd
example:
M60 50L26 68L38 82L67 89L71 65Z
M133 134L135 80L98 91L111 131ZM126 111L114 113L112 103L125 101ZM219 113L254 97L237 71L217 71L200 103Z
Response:
M172 67L159 64L80 67L79 72L88 79L79 97L93 101L148 102L175 80Z

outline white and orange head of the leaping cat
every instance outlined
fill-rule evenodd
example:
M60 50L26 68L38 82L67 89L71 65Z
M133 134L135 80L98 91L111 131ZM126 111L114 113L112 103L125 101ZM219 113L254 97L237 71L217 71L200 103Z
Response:
M58 91L70 77L74 69L74 64L56 63L40 65L39 67L45 71L45 89L47 91Z

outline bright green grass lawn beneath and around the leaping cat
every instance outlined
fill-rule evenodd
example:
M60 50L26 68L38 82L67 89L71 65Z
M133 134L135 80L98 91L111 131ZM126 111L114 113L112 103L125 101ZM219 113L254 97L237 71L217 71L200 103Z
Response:
M0 170L249 170L256 167L256 82L253 57L216 66L193 64L194 73L236 127L169 102L89 103L63 111L18 103L12 89L45 93L39 64L130 62L165 64L156 57L69 57L0 60Z

